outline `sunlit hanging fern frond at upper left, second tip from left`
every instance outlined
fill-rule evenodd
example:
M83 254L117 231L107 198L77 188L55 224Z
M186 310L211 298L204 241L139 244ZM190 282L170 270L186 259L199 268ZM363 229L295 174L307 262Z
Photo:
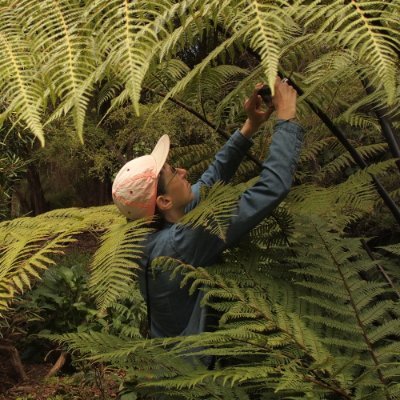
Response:
M71 112L83 140L95 62L81 4L77 0L23 0L18 10L49 89L61 101L48 122Z

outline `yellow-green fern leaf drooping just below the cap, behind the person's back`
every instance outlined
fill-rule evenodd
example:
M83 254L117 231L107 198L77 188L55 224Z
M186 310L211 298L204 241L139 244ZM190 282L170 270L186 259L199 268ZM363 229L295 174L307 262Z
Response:
M89 289L101 310L130 290L143 240L151 230L147 220L111 225L91 262Z

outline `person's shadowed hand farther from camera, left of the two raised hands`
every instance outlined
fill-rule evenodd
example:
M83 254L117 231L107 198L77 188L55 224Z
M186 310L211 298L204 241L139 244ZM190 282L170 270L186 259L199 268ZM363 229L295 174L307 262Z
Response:
M257 132L261 124L264 123L274 111L272 106L267 110L261 108L263 101L261 96L258 94L258 91L263 86L262 83L257 83L253 94L244 102L244 109L248 118L240 132L247 138L250 138L255 132Z

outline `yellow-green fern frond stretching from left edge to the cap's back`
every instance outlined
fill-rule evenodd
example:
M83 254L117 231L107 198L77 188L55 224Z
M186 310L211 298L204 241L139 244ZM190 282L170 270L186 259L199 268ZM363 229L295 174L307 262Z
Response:
M56 210L36 218L20 218L0 224L0 312L19 293L55 264L55 257L85 231L104 230L122 217L110 207ZM60 223L62 221L62 223Z

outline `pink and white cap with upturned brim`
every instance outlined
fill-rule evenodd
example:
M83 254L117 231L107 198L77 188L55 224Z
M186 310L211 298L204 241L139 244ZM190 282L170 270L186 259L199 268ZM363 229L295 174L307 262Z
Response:
M158 176L167 160L169 145L169 136L161 136L151 154L127 162L115 177L112 197L128 219L154 215Z

